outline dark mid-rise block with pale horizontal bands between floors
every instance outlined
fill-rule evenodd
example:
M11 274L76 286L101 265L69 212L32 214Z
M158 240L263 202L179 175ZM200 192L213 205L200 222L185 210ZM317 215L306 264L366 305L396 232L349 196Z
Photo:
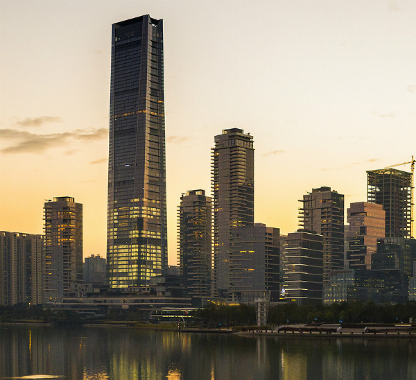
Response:
M322 304L323 236L297 230L286 237L284 296L299 305Z

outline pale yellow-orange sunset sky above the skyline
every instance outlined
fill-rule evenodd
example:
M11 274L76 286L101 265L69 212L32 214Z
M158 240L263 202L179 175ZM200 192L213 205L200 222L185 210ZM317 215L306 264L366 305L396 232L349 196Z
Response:
M211 193L223 129L254 137L254 219L297 230L329 186L416 156L416 1L0 1L0 230L42 234L47 199L83 203L105 257L111 26L164 20L168 259L180 194ZM410 165L397 166L410 171Z

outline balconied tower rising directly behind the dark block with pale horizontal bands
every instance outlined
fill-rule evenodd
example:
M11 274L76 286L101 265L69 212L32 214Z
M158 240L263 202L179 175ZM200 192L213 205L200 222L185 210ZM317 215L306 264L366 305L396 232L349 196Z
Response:
M300 200L300 226L324 237L324 287L331 270L344 268L344 196L330 187L312 189Z

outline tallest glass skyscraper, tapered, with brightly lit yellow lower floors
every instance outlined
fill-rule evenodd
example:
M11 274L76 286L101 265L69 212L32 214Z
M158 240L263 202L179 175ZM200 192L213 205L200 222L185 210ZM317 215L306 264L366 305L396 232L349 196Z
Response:
M107 276L111 288L166 270L163 21L112 26Z

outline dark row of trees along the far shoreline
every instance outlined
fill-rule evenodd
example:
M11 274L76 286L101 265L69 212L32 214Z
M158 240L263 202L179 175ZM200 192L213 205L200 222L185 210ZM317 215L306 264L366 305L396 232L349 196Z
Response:
M15 320L38 320L53 322L60 319L79 319L74 311L51 311L42 305L29 306L16 304L0 306L0 322ZM145 320L148 313L144 311L123 312L111 310L107 320ZM268 325L293 325L313 323L408 323L416 322L416 301L406 304L374 304L374 302L341 302L331 305L299 306L295 303L284 303L270 306ZM205 327L256 325L256 309L253 305L237 306L211 304L193 311L194 325Z

